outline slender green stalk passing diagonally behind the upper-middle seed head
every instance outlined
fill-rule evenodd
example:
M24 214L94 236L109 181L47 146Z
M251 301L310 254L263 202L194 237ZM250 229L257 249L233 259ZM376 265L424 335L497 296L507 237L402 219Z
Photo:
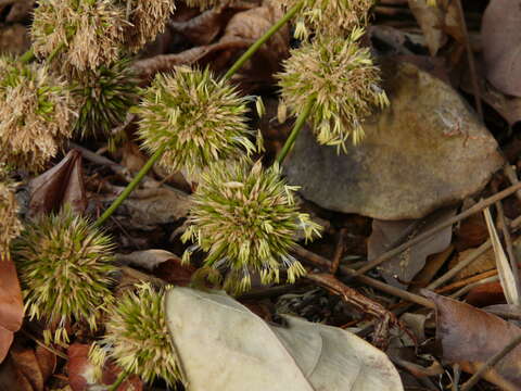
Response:
M229 79L236 74L240 67L252 58L252 55L265 43L269 38L271 38L282 26L284 26L304 5L304 1L300 1L294 5L290 11L288 11L284 16L282 16L271 28L269 28L259 39L253 43L250 49L246 50L244 54L241 55L239 60L230 67L230 70L224 76L225 79ZM307 117L307 115L306 115ZM305 123L305 118L303 119ZM296 136L295 136L296 137ZM290 146L291 147L291 146ZM154 163L161 157L163 152L166 150L166 146L157 150L147 162L147 164L141 168L136 178L128 184L125 190L119 194L119 197L112 203L112 205L101 215L100 218L96 222L96 226L102 225L113 213L114 211L125 201L125 199L132 192L132 190L139 185L139 182L144 178L147 173L152 168ZM282 157L283 159L283 157Z

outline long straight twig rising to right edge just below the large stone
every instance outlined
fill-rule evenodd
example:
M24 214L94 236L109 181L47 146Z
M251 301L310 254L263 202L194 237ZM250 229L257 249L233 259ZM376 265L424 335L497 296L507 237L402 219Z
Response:
M480 201L479 203L476 203L474 206L468 209L467 211L465 211L465 212L462 212L462 213L460 213L460 214L458 214L454 217L450 217L450 218L446 219L445 222L443 222L443 223L439 224L437 226L429 229L428 231L425 231L421 235L418 235L416 238L405 242L404 244L398 245L397 248L383 253L382 255L380 255L374 261L371 261L366 266L361 267L358 272L356 272L356 274L354 276L357 277L357 276L360 276L360 275L365 274L366 272L371 270L372 268L377 267L381 263L392 258L393 256L396 256L396 255L401 254L404 250L407 250L408 248L425 240L427 238L430 238L431 236L441 231L442 229L444 229L448 226L452 226L453 224L458 223L458 222L473 215L474 213L481 212L485 207L492 205L493 203L495 203L499 200L503 200L504 198L507 198L508 195L512 194L513 192L516 192L519 189L521 189L521 182L512 185L512 186L506 188L505 190L498 192L497 194L494 194L494 195L492 195L492 197L490 197L490 198L487 198L483 201Z

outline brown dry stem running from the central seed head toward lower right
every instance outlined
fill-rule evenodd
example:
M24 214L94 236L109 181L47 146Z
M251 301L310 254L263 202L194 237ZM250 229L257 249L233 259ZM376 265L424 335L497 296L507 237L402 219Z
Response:
M302 261L306 262L309 265L318 266L328 270L331 268L331 262L329 260L318 254L315 254L314 252L310 252L300 245L295 245L292 251L295 255L298 255L302 258ZM341 265L339 269L342 274L346 276L354 276L356 274L356 270L345 267L343 265ZM412 302L428 308L435 308L434 303L429 299L425 299L415 293L407 292L406 290L403 290L399 288L395 288L393 286L390 286L389 283L379 281L374 278L370 278L367 276L356 276L356 279L360 282L367 283L372 288L376 288L378 290L381 290L382 292L392 294L396 298L401 298L405 301Z

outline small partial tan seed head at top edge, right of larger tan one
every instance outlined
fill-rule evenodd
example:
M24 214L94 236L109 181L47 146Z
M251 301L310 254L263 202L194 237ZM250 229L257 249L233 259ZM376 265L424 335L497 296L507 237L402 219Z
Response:
M125 31L125 46L131 52L137 52L165 30L166 23L176 8L173 0L134 0L130 4L131 26Z

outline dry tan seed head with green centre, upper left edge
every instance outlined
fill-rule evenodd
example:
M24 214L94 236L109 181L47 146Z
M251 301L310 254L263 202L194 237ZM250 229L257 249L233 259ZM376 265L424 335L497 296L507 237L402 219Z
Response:
M41 169L71 137L71 96L45 65L0 56L0 162Z

